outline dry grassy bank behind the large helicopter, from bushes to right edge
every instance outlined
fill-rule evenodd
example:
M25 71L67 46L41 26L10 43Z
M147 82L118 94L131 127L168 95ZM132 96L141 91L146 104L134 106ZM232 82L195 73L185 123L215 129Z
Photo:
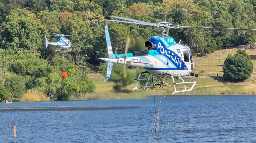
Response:
M104 78L94 79L96 85L96 93L92 94L97 96L98 99L120 99L120 98L144 98L145 96L154 95L154 90L139 89L130 93L115 93L113 91L112 82L103 82ZM197 81L196 86L190 92L183 92L174 95L220 95L220 94L256 94L256 80L249 78L243 82L224 81L223 78L191 78L185 79L185 81ZM175 81L180 82L180 81ZM226 82L226 84L224 84ZM172 95L173 83L172 80L167 80L170 87L164 87L164 90L160 90L157 86L156 95ZM136 83L127 86L124 91L130 91L135 87ZM186 85L189 89L192 85ZM182 84L176 85L177 90L183 90ZM86 97L87 98L87 97Z

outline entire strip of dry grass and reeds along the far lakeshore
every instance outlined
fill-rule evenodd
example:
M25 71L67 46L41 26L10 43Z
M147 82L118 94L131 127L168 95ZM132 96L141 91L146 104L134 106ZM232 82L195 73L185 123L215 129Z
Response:
M196 81L197 84L192 91L172 94L173 83L171 80L166 80L170 87L159 89L157 87L155 95L158 96L177 96L177 95L256 95L256 84L254 83L255 78L250 77L249 79L242 82L224 81L220 78L187 78L185 81ZM113 82L102 83L102 78L94 79L93 82L96 86L95 93L81 94L79 97L70 95L67 100L63 101L84 101L84 100L111 100L111 99L143 99L146 96L154 96L154 89L143 89L131 91L134 88L135 83L128 85L120 91L113 90ZM225 84L224 84L225 83ZM191 85L186 86L190 88ZM183 90L183 85L176 85L177 90ZM57 100L54 96L55 101ZM7 97L8 100L10 100ZM13 100L15 102L15 100ZM19 102L31 102L31 101L52 101L47 99L47 95L43 92L34 90L29 93L25 93L23 97L19 99ZM16 100L17 102L17 100Z

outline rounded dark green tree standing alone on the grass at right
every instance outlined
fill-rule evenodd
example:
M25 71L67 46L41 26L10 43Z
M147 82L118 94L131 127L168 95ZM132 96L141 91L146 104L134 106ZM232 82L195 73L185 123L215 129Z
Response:
M245 50L239 50L234 56L227 56L223 66L223 76L230 80L246 80L253 71L250 57L246 56Z

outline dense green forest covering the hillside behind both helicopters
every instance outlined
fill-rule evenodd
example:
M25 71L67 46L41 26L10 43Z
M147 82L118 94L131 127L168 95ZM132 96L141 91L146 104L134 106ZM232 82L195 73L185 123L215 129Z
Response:
M168 21L185 26L256 28L256 0L0 0L0 97L10 91L18 100L24 92L51 91L59 98L95 91L86 78L89 68L107 56L104 26L109 25L113 51L123 52L126 38L132 50L150 36L158 36L157 27L108 22L110 16L122 16L158 23ZM80 35L72 41L69 53L45 48L46 34ZM255 48L256 33L244 30L172 29L176 42L191 47L193 54L205 55L218 49L239 45ZM49 37L55 41L58 37ZM142 44L143 45L143 44ZM61 77L61 70L68 77Z

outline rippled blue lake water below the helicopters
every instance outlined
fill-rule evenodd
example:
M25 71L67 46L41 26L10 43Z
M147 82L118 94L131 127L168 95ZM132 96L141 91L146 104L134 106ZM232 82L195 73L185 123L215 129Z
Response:
M166 96L159 142L256 142L255 105L254 95ZM148 142L156 116L154 96L0 104L0 114L0 143Z

